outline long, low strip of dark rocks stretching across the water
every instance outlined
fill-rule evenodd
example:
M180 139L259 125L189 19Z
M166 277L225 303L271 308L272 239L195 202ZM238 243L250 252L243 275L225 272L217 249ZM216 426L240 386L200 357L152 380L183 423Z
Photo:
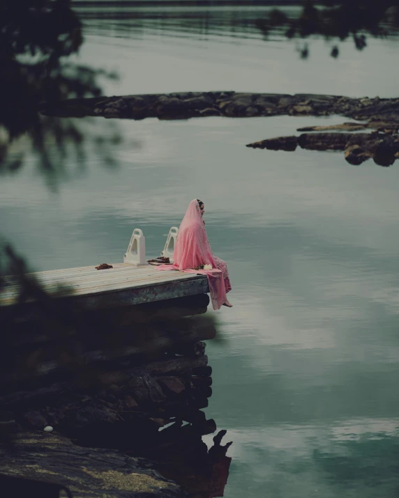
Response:
M399 99L349 98L336 95L227 92L181 92L70 99L45 104L47 116L186 119L201 116L330 116L359 120L397 120Z

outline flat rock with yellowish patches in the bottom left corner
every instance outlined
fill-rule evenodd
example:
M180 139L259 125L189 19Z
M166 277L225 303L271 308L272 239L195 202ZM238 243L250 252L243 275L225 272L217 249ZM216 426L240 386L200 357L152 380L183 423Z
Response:
M0 456L3 496L24 496L17 492L24 489L26 496L58 496L55 488L73 498L187 496L143 458L116 450L83 448L60 435L20 432L13 446L0 449Z

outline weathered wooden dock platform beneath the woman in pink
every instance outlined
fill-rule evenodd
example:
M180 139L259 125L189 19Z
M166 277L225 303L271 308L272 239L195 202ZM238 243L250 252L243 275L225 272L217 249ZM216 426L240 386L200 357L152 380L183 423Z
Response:
M47 293L73 298L87 308L112 308L209 292L206 275L176 270L160 271L155 266L112 263L112 268L96 266L49 270L29 274ZM17 304L19 284L5 277L0 306Z

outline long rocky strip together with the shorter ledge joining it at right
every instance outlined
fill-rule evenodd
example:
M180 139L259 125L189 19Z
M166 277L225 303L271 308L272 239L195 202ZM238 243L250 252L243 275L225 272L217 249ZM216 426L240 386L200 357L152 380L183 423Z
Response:
M153 95L125 95L71 99L44 104L46 116L178 120L206 116L253 118L256 116L332 116L341 115L365 123L344 123L333 127L315 126L298 131L300 137L277 137L249 143L251 148L269 150L343 150L349 164L374 159L380 166L391 166L399 158L399 98L349 98L339 95L299 93L183 92ZM338 133L344 130L346 133ZM375 133L354 134L359 130Z

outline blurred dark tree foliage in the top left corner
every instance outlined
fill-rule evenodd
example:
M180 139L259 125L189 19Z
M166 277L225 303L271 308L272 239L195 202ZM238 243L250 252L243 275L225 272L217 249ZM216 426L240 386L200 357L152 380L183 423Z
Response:
M50 187L57 185L66 168L65 143L75 148L84 164L84 140L97 146L98 141L119 139L116 132L101 137L93 127L83 132L74 120L38 114L45 102L98 97L98 78L116 78L103 69L66 61L83 42L82 24L71 4L68 0L4 0L0 6L0 172L21 169L29 141ZM22 142L13 146L20 137ZM103 152L100 148L98 155L111 164L110 155Z

